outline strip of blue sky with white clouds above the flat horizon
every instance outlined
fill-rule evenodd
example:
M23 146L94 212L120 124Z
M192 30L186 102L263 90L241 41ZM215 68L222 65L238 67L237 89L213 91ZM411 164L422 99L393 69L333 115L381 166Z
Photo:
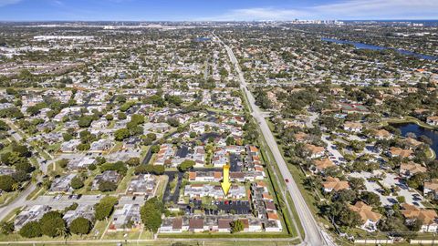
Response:
M2 21L438 19L438 0L0 0Z

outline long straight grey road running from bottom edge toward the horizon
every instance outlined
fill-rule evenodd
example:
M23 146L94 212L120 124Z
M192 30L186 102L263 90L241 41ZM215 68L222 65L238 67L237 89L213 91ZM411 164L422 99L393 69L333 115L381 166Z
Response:
M303 243L305 245L312 245L312 246L335 245L329 239L327 233L323 232L321 228L318 226L317 221L315 220L312 212L308 208L308 204L306 203L303 196L301 195L301 192L298 190L297 183L292 178L289 169L287 169L287 163L285 159L283 159L283 156L281 155L281 152L276 144L276 139L274 138L274 135L272 134L270 128L267 126L262 111L260 110L260 108L258 108L255 105L255 98L246 87L247 85L246 85L245 77L242 73L242 70L240 69L239 63L235 57L233 50L229 46L225 45L224 42L222 41L220 42L224 45L228 53L228 56L230 57L231 62L235 65L235 70L237 71L241 88L245 92L245 95L248 98L250 104L250 108L253 111L252 116L255 118L258 125L260 126L263 136L266 139L266 143L271 149L274 159L276 159L276 164L281 172L281 175L283 176L283 179L289 180L288 182L285 182L285 185L287 187L287 191L289 192L292 200L294 201L299 220L301 221L301 224L303 225L304 231L306 233Z

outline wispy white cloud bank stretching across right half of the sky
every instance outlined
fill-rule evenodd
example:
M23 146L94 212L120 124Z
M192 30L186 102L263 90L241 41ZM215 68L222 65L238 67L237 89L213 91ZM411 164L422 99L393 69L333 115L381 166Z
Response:
M233 9L213 20L436 19L437 0L344 0L303 8ZM208 18L205 18L208 19Z

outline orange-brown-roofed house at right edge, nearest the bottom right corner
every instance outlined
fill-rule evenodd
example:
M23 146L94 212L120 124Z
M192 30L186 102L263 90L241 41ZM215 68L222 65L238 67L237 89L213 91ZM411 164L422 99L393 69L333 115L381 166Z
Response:
M419 209L414 205L403 203L401 204L403 210L404 218L406 218L406 223L410 224L415 222L415 220L422 221L421 232L436 232L438 229L438 215L435 210L423 210Z

